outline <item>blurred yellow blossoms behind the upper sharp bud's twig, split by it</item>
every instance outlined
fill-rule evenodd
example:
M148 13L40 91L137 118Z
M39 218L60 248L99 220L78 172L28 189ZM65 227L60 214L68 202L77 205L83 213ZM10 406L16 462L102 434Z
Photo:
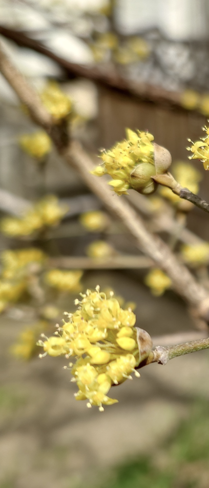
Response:
M178 183L181 184L183 188L188 188L188 190L192 191L193 193L198 193L199 191L199 182L202 179L202 176L196 168L193 168L189 163L184 163L183 161L177 162L173 166L173 175ZM167 198L173 205L178 206L180 210L187 211L192 208L190 202L186 200L182 200L178 195L172 192L167 187L160 186L159 188L160 194Z

